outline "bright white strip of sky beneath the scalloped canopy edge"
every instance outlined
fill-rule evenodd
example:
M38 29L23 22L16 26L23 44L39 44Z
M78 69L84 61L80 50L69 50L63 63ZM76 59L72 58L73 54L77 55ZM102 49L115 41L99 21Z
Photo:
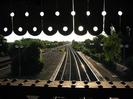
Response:
M72 32L68 36L63 36L59 32L57 32L53 36L48 36L43 32L41 32L40 35L38 35L38 36L32 36L28 32L23 36L18 36L14 32L12 32L12 34L10 34L9 36L6 36L5 38L7 39L7 42L14 42L15 40L21 40L22 38L41 39L41 40L48 40L48 41L72 41L72 40L84 41L86 39L92 40L94 37L95 36L91 35L89 32L87 32L83 36L79 36L79 35L75 34L74 32Z

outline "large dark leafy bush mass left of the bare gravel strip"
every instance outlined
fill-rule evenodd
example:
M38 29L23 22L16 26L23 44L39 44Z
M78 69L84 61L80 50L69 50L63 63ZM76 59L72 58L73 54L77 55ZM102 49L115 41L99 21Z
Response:
M19 48L16 48L15 46ZM23 46L22 48L20 48ZM40 40L22 39L15 41L9 46L9 53L12 57L12 73L17 76L21 66L21 75L33 75L41 71L43 63L40 61L40 49L43 47Z

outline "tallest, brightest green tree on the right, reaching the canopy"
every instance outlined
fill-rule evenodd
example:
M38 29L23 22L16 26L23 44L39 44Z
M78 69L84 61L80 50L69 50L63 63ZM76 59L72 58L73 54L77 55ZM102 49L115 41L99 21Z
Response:
M103 51L105 61L107 62L120 62L121 61L121 39L114 31L107 38L103 39Z

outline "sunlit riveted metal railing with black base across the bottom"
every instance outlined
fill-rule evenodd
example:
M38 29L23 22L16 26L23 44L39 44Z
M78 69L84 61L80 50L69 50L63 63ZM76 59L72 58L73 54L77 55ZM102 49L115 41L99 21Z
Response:
M1 79L0 99L132 99L132 88L133 81Z

